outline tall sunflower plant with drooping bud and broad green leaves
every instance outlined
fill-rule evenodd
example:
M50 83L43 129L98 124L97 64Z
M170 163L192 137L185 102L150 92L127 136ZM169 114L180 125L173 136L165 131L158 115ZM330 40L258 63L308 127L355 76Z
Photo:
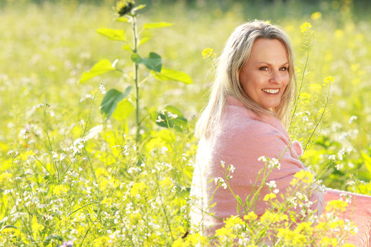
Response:
M179 71L172 71L170 69L164 69L164 72L162 71L162 59L159 54L156 54L155 52L150 52L146 58L142 58L138 54L138 48L140 45L143 45L144 43L148 42L149 38L144 37L141 39L141 34L144 30L150 30L154 28L159 27L168 27L171 26L171 23L166 22L160 22L160 23L144 23L143 30L138 32L137 31L137 16L139 16L136 12L137 10L142 10L145 7L145 5L138 5L135 7L134 1L117 1L116 4L116 12L120 16L116 19L118 22L128 22L131 23L131 28L133 31L133 47L128 45L126 43L126 35L124 30L113 30L111 28L100 28L97 30L98 34L102 34L103 36L106 36L110 40L119 40L123 41L124 46L122 49L132 51L131 54L131 61L134 63L134 78L133 78L133 84L135 84L135 102L136 102L136 127L137 127L137 141L140 139L140 130L141 130L141 120L139 117L140 112L143 110L141 109L141 106L139 105L139 89L142 87L142 83L145 80L148 80L148 77L145 80L142 80L142 82L139 81L139 64L144 64L147 69L150 69L150 71L153 71L154 73L150 73L150 75L153 75L155 78L159 80L177 80L180 82L184 82L186 84L192 83L192 80L190 79L190 76L187 75L184 72ZM117 61L117 60L116 60ZM85 82L91 78L94 78L96 75L100 75L102 73L108 72L115 69L115 64L110 66L109 60L101 60L97 64L93 66L93 68L89 72L84 72L82 74L82 78L80 79L80 82ZM120 69L117 69L118 71L123 71ZM127 90L129 89L129 90ZM131 87L127 88L126 92L130 93ZM124 99L124 97L127 96L127 93L120 93L117 90L110 90L109 93L104 97L102 102L102 108L101 112L106 115L106 119L109 119L111 115L115 112L115 108L117 104ZM120 117L119 117L120 118ZM183 123L186 121L186 119L179 119L176 122ZM175 122L174 119L172 119L171 124L166 125L159 125L167 128L175 127L178 131L183 130L183 125L180 124L173 124Z

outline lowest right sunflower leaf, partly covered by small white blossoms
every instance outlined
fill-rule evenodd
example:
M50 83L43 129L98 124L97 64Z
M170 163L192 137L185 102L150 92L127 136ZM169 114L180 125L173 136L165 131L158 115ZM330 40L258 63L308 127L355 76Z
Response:
M160 113L151 113L150 117L158 126L174 128L178 132L183 132L188 124L187 119L175 106L166 106Z

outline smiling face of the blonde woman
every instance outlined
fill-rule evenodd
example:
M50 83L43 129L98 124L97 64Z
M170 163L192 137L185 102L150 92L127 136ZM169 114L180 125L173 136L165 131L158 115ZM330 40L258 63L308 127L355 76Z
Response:
M289 80L289 59L284 45L276 39L255 40L250 57L240 70L240 83L247 95L273 110L280 104Z

